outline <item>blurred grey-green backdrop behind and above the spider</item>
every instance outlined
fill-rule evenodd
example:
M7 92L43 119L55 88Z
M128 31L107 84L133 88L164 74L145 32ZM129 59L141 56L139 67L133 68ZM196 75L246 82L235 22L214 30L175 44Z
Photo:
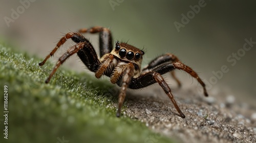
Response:
M32 0L31 0L32 1ZM24 7L20 2L27 2ZM19 50L45 58L56 42L66 33L94 25L109 27L114 41L129 41L146 50L143 65L166 52L196 70L201 78L214 83L209 94L225 93L237 100L255 103L256 44L237 63L228 62L228 56L241 52L245 39L256 41L256 10L254 1L205 1L197 13L191 7L201 1L3 1L0 2L0 39ZM12 22L12 9L19 11ZM189 22L179 28L182 14L190 14ZM9 25L9 26L8 26ZM85 35L98 48L97 35ZM65 44L50 61L65 52ZM248 45L247 45L248 46ZM235 58L230 58L234 61ZM74 56L64 64L77 72L84 66ZM213 71L226 65L227 73L217 81ZM177 72L184 87L197 84L188 74ZM166 76L165 76L166 77ZM217 78L216 78L217 79ZM168 81L173 89L176 83ZM172 86L173 85L173 86Z

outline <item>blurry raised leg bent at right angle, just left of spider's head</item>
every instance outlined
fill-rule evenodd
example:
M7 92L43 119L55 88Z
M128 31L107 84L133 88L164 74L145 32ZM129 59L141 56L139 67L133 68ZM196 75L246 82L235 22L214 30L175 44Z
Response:
M101 26L94 26L91 28L82 28L79 30L80 33L99 33L99 48L100 48L100 57L106 53L110 53L113 49L112 45L112 35L108 28Z

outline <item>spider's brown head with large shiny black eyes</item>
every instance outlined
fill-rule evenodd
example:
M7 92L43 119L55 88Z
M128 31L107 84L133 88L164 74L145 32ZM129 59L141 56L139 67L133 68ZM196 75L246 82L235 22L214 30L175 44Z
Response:
M121 61L134 63L140 68L144 51L127 43L119 43L117 41L116 47L112 50L111 53Z

